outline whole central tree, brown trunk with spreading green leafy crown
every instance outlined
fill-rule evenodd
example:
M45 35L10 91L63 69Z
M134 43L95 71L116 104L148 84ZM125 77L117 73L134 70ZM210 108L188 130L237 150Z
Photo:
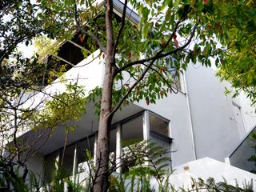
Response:
M250 48L241 43L245 36L240 29L246 31L247 24L255 28L255 22L249 22L255 18L253 2L249 0L129 2L138 10L138 23L129 19L128 0L123 4L122 18L114 14L112 0L107 0L105 6L90 0L51 3L40 0L36 4L41 10L37 17L42 19L44 29L53 23L58 26L46 31L50 38L67 39L74 30L79 30L81 41L86 38L90 49L99 48L106 60L102 89L92 91L92 97L101 98L94 191L106 191L108 185L110 125L114 113L127 102L145 99L150 104L175 92L174 78L190 62L211 66L210 58L214 57L216 65L230 63L229 58L235 57L230 54L234 45L242 46L245 52ZM246 22L242 22L243 13L248 14Z

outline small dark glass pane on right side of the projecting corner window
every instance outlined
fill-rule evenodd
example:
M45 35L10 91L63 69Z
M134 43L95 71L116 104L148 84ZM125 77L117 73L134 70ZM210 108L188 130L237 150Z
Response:
M150 114L150 131L169 137L169 122L157 115Z

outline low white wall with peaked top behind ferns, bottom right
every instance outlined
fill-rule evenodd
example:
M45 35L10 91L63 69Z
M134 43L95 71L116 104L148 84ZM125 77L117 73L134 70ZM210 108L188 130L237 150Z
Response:
M201 158L178 167L174 167L174 174L170 176L170 182L175 186L191 187L191 178L214 178L215 182L224 182L230 185L243 187L245 182L253 182L253 190L256 190L256 175L234 166L226 165L212 158ZM190 177L188 177L190 176Z

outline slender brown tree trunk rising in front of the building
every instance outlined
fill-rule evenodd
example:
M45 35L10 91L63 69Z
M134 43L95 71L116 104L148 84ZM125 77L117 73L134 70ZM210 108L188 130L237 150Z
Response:
M112 86L116 69L114 61L114 41L112 26L113 2L107 0L106 7L106 66L102 87L101 112L98 127L98 149L96 158L96 182L94 191L106 191L108 186L110 126L112 121Z

